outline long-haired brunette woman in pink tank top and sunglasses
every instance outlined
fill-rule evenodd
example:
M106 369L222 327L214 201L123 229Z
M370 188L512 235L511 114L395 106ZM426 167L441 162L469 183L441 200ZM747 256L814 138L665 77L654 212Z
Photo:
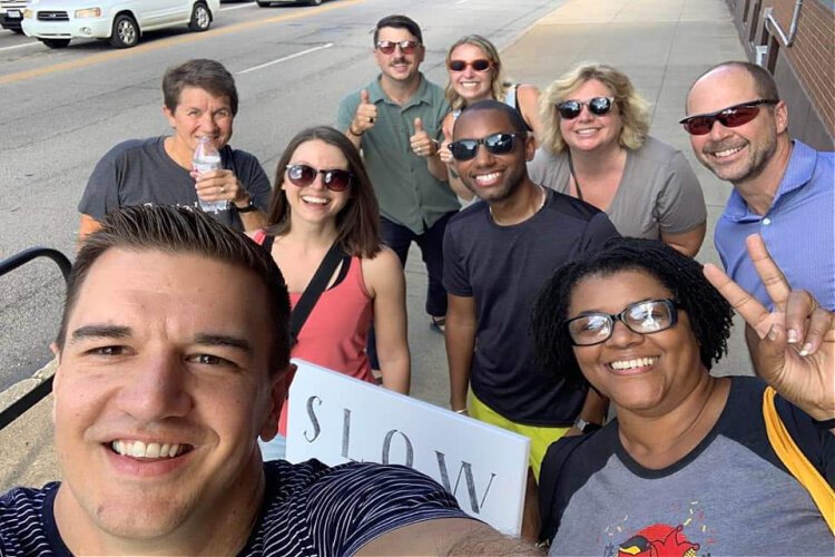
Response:
M382 245L379 228L377 202L360 152L338 130L321 126L299 131L284 149L267 227L254 240L273 254L294 309L325 254L338 245L345 257L291 355L373 383L365 353L373 317L382 384L409 394L405 280L397 256Z

